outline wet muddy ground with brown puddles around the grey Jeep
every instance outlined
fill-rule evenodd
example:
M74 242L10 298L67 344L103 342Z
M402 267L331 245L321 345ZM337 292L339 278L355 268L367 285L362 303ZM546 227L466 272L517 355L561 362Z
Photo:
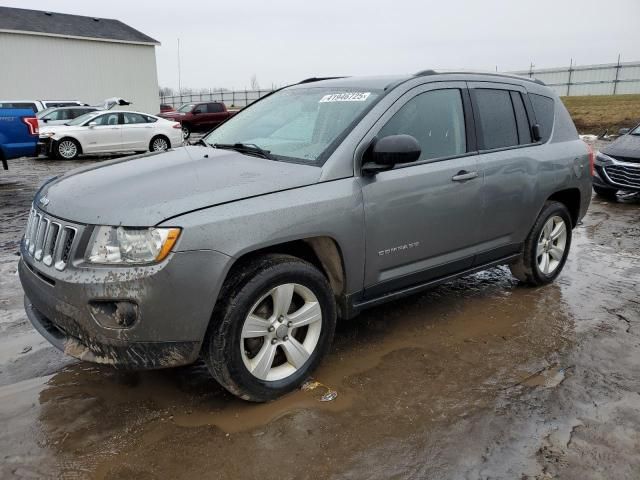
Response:
M30 327L18 242L44 179L0 172L0 478L640 478L640 198L594 199L553 285L506 268L339 325L322 387L266 405L201 365L118 372Z

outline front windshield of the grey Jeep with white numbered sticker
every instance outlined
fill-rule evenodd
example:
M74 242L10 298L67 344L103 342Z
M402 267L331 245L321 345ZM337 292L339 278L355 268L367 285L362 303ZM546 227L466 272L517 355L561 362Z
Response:
M319 163L379 96L379 90L370 89L281 90L242 110L203 140L212 146L257 145L276 160Z

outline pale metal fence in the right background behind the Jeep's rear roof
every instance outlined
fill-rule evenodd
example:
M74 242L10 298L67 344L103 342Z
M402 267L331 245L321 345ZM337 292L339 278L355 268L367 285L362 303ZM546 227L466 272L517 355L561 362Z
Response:
M521 70L515 73L542 80L558 95L623 95L640 93L640 62Z

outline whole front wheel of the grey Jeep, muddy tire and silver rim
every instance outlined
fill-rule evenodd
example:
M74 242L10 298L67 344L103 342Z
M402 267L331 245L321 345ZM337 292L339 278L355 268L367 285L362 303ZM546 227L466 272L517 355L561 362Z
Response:
M288 255L234 267L202 356L229 392L266 402L299 387L331 346L336 305L325 276Z

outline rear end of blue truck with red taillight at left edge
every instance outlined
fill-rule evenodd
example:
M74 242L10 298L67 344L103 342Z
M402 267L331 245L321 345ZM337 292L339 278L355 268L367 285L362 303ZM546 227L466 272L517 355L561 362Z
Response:
M38 150L38 119L30 109L0 108L0 161L9 170L7 160L33 157Z

